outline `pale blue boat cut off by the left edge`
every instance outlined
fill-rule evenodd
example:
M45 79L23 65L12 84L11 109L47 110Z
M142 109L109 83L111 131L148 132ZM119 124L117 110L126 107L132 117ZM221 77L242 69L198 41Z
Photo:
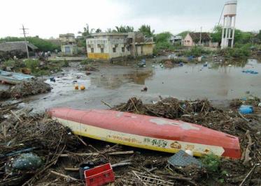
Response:
M8 84L19 84L24 80L29 80L32 78L34 78L34 76L0 70L0 81Z

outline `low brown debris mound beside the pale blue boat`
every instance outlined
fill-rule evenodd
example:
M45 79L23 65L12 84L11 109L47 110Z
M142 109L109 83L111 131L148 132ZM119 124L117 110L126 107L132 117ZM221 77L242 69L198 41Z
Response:
M23 98L28 95L36 95L39 93L47 93L51 90L49 84L39 80L33 79L31 81L22 82L9 88L8 90L0 91L0 100L6 100L8 98Z

